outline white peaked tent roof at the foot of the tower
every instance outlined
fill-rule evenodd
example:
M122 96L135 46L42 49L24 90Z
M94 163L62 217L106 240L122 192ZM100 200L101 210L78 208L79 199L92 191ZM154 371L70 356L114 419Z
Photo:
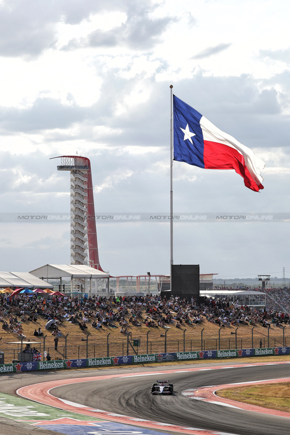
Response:
M108 278L109 273L85 265L55 265L47 264L32 270L38 277L44 278Z

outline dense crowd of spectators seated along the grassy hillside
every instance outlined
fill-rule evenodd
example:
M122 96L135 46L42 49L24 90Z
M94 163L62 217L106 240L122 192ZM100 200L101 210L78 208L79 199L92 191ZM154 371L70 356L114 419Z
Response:
M55 337L61 336L63 322L79 324L82 331L88 328L120 328L121 334L128 334L128 327L183 328L186 325L211 322L219 327L231 327L239 324L261 324L265 328L289 325L288 310L283 310L282 302L287 298L286 290L271 289L272 298L269 307L239 305L227 299L173 297L161 298L160 295L130 297L47 297L0 295L0 321L2 329L19 337L25 337L23 324L36 322L42 318L51 322L51 331ZM272 309L273 298L279 297L281 309ZM285 302L286 303L286 302ZM35 329L34 335L43 335L41 329Z

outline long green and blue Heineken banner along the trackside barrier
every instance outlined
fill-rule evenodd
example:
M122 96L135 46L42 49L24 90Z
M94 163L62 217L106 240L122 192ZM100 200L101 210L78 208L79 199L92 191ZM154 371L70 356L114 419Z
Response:
M65 359L53 361L17 362L13 364L0 364L1 373L21 373L36 370L55 370L84 367L105 367L123 364L142 364L150 362L170 362L218 358L242 358L253 356L289 355L290 347L266 347L260 349L234 349L224 351L194 351L194 352L167 352L149 355L125 355L120 357Z

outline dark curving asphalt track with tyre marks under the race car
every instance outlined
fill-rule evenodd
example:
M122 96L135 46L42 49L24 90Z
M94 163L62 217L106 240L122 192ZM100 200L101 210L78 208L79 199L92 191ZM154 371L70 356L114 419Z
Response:
M119 414L240 435L289 433L290 420L182 396L192 387L289 377L289 364L170 374L173 396L151 395L155 376L118 378L54 388L53 396ZM160 375L159 375L160 378ZM166 378L162 375L161 378Z

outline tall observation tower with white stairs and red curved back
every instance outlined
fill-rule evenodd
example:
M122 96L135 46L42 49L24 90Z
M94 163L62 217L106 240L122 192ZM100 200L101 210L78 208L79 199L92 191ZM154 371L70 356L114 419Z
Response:
M81 156L59 156L57 170L71 172L71 264L102 272L97 242L91 162Z

